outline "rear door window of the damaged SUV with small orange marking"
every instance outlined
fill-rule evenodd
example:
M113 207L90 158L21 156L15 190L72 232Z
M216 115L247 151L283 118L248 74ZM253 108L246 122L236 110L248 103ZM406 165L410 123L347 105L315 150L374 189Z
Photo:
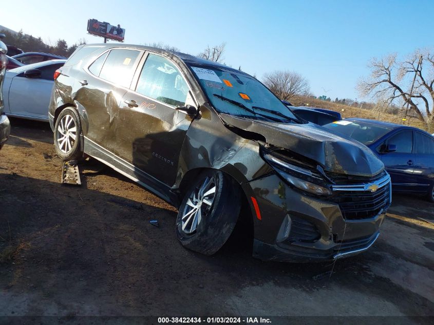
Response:
M133 80L139 54L140 51L136 50L111 50L101 69L100 78L128 88Z

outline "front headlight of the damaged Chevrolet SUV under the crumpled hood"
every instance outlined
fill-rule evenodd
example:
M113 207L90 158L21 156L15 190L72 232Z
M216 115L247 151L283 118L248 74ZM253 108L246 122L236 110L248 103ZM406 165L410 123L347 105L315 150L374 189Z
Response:
M290 164L268 152L263 152L262 157L294 187L315 195L332 194L324 179L312 173L311 170Z

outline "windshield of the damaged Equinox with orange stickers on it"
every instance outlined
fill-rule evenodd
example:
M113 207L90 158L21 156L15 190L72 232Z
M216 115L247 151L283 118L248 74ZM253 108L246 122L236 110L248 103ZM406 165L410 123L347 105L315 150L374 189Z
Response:
M270 90L250 75L216 66L190 68L212 105L221 113L284 123L297 121Z

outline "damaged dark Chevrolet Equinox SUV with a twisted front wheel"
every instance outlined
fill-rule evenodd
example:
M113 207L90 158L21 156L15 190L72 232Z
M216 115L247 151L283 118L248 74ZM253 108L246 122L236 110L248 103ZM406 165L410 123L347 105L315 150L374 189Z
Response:
M54 77L57 154L93 157L176 206L186 248L216 253L246 217L242 206L262 260L333 260L379 236L391 202L383 163L359 142L304 124L247 73L97 44L79 47Z

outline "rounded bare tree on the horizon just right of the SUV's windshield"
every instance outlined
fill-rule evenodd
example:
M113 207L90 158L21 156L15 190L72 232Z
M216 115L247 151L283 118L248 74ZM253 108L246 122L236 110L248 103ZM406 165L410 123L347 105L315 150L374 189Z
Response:
M294 95L308 94L309 81L295 71L277 70L263 75L262 82L282 101Z

